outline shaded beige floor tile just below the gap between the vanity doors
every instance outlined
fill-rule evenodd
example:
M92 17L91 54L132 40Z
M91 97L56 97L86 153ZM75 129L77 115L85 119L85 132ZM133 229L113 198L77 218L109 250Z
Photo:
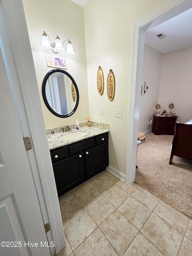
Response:
M74 193L82 205L85 205L100 194L100 192L90 182L87 182L81 187L77 188Z

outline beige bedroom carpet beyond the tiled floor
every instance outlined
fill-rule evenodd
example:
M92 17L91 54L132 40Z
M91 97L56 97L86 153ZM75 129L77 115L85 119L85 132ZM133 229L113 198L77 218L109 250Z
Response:
M192 218L192 161L174 156L170 165L172 141L172 135L146 134L137 148L135 183Z

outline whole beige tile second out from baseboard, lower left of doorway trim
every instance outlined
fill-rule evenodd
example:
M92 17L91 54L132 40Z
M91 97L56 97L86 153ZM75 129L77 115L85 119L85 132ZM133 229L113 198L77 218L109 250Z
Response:
M109 188L106 188L102 192L104 197L106 197L116 208L127 199L130 194L128 194L124 189L119 187L117 184L112 184Z

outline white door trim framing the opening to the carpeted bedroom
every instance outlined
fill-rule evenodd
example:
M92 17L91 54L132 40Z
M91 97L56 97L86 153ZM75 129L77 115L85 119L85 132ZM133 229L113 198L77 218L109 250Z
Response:
M136 20L133 24L125 180L128 184L132 184L135 180L145 32L147 29L158 26L190 8L192 8L192 0L168 0Z

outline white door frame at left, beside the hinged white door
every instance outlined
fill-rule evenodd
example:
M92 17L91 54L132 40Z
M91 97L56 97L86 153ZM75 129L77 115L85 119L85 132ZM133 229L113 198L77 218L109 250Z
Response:
M2 0L2 5L13 55L6 52L6 46L4 50L8 65L11 66L10 55L14 58L20 83L20 88L13 87L14 98L23 136L32 139L29 162L44 223L49 222L51 227L47 237L49 242L54 241L57 253L66 241L22 0ZM51 253L54 254L53 251Z

